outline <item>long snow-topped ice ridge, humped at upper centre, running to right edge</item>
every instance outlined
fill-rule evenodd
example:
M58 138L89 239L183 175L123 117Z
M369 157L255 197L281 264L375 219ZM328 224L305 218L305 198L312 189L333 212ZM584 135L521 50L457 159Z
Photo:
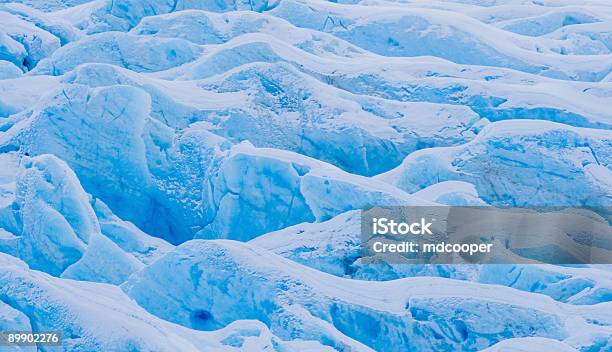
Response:
M254 62L287 62L321 82L390 100L467 105L491 121L543 119L612 128L595 83L562 83L515 71L437 59L315 56L271 36L250 33L206 46L197 60L158 73L164 79L209 78ZM401 78L400 78L401 77ZM411 83L413 80L418 83ZM551 89L554 87L554 91ZM605 88L603 88L605 90Z

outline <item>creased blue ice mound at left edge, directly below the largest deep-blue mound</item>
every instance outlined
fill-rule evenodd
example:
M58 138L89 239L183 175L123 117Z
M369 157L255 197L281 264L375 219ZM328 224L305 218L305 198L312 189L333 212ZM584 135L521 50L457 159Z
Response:
M52 275L115 284L143 266L102 236L89 196L64 162L16 154L2 161L15 167L15 178L4 183L1 252Z

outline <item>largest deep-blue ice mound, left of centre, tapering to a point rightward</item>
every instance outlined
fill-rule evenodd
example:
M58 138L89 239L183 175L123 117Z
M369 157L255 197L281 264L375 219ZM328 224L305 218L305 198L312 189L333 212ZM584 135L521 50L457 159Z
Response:
M299 154L248 143L231 148L198 126L175 133L150 118L150 101L131 86L64 85L23 117L5 143L30 155L60 156L115 213L174 243L195 234L246 240L380 202L426 204ZM322 197L330 193L338 197ZM271 209L278 213L263 216Z

